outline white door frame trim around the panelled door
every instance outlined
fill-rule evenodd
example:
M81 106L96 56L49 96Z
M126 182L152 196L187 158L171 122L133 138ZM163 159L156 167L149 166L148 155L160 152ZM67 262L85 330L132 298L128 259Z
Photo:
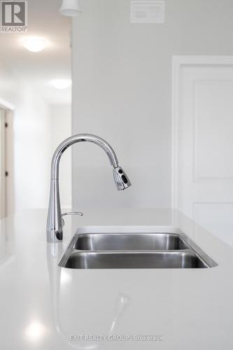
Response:
M178 208L178 116L183 66L233 66L233 56L172 56L171 77L171 208Z

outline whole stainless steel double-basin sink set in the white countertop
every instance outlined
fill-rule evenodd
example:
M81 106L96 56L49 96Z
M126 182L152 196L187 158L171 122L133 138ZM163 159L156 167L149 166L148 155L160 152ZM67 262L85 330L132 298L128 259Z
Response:
M70 269L185 269L217 266L184 233L84 233L59 266Z

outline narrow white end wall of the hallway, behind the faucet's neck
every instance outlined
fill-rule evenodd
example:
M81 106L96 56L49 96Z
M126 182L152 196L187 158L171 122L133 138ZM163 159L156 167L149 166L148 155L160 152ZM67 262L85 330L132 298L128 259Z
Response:
M52 151L71 136L71 106L55 105L51 108ZM62 155L59 167L59 190L62 208L71 209L71 148Z

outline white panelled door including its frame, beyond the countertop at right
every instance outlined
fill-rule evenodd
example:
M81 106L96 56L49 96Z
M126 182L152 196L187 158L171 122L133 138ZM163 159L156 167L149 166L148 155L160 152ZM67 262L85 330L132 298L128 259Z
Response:
M233 57L173 71L173 206L233 246Z

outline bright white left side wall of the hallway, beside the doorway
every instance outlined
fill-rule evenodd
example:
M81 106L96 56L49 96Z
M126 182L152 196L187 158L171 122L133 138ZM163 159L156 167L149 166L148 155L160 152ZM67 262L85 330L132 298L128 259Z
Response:
M0 62L0 99L15 106L13 158L15 212L48 206L51 118L50 106L34 87Z

